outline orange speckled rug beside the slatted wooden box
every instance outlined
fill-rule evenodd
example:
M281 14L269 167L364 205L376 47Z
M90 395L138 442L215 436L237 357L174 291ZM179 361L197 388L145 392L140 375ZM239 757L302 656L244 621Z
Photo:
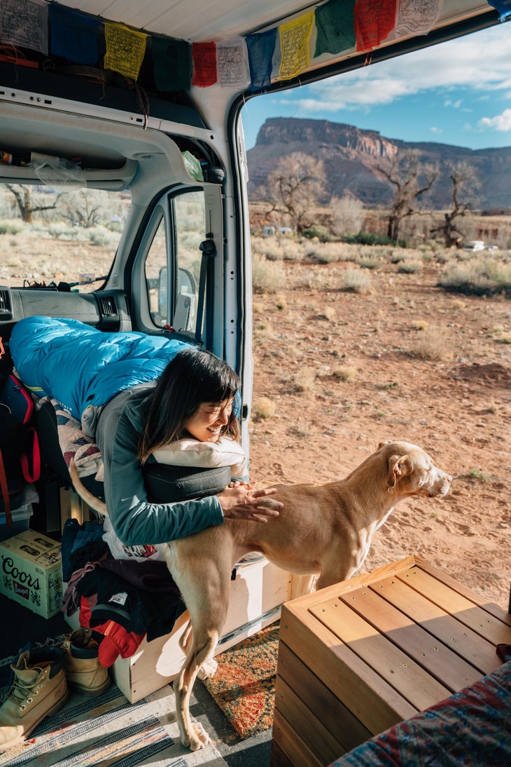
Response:
M218 670L206 689L241 738L274 723L279 624L247 637L216 657Z

